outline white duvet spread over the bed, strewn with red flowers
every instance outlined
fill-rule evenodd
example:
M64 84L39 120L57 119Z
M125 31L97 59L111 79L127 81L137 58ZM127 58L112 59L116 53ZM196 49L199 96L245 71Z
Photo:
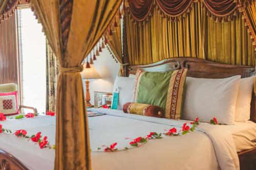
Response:
M141 147L130 147L131 140L150 132L164 132L175 126L179 131L185 120L125 114L116 110L96 109L107 115L89 117L93 169L239 169L233 138L225 126L201 124L197 131L184 136L153 139ZM7 119L3 127L25 129L29 134L38 131L55 142L55 117L42 116L21 120ZM20 128L19 128L20 127ZM98 152L101 145L117 142L119 150ZM133 148L133 149L131 149ZM0 149L9 152L30 169L53 169L54 150L39 149L38 145L14 135L0 134ZM46 163L47 162L47 163Z

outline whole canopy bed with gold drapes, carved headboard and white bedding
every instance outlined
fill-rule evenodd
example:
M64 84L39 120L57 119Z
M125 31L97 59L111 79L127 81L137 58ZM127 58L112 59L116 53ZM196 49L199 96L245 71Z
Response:
M121 11L122 1L114 0L31 0L31 3L28 1L38 21L42 23L52 51L60 63L56 120L54 116L39 116L34 120L24 119L19 123L15 119L9 119L3 122L3 125L5 128L15 131L17 126L24 122L26 126L23 128L31 130L29 135L36 131L44 132L49 137L50 143L56 144L56 150L54 152L52 149L34 149L33 143L27 144L28 141L25 138L17 139L19 144L23 146L19 147L17 141L14 140L15 136L2 134L4 136L3 140L0 140L0 169L120 169L125 167L129 169L132 165L127 160L133 162L134 168L147 167L148 169L151 167L169 168L171 164L174 168L190 167L193 169L202 160L208 162L208 164L200 164L202 169L239 169L239 164L241 169L255 168L256 148L255 141L253 141L255 136L253 135L256 134L256 129L253 122L256 121L256 100L254 93L252 93L250 104L250 123L223 126L209 126L207 123L202 123L194 132L186 136L149 140L138 148L125 147L126 140L123 142L123 139L125 137L135 138L154 130L162 133L164 129L172 127L179 130L183 128L183 123L189 121L124 114L122 111L105 109L92 110L106 115L87 116L79 74L82 69L80 63L89 54L91 54L92 59L95 51L97 52L98 48L102 47L98 45L99 41L102 43L104 41L104 44L108 46L115 60L120 62L120 75L126 77L129 74L136 74L138 69L150 72L187 69L188 77L207 79L222 79L237 75L240 75L241 78L247 78L255 75L254 47L256 36L255 19L253 19L255 1L230 0L221 3L220 8L219 6L216 7L218 1L180 0L177 4L172 1L166 1L167 4L164 2L160 0L124 1L124 6L121 8L123 11ZM204 11L201 9L200 3ZM51 4L51 8L49 8L49 4ZM223 8L225 10L222 10ZM233 19L237 19L240 24L245 23L245 27L241 27L234 24L236 21L228 22L230 25L227 24L227 27L239 28L239 33L236 32L236 29L233 32L241 38L238 39L241 44L236 44L237 39L234 38L233 46L229 46L232 49L230 50L231 53L228 54L227 58L225 58L226 53L221 56L224 58L218 58L219 54L211 49L211 46L216 44L210 44L210 42L214 42L208 38L214 36L213 33L208 32L209 30L207 31L208 27L205 26L214 25L214 23L208 21L203 12L206 12L207 16L212 17L214 21L221 21L218 22L221 28L225 27L223 26L225 23L222 22ZM242 14L239 15L239 12ZM4 20L3 17L7 17L8 14L8 10L5 11L2 18L0 16L0 20ZM121 31L114 30L121 29L119 23L122 14L124 14L124 19L123 38L121 39ZM236 17L237 14L238 17ZM88 17L83 17L84 15ZM200 20L197 16L202 16L201 19L203 19ZM161 19L159 19L160 17ZM193 21L198 25L195 24L195 27L190 27L189 23ZM189 25L187 27L189 29L184 29L182 32L177 31L179 27L183 28L185 24ZM173 33L170 34L164 30L165 27L172 30ZM215 25L212 26L212 28L214 27ZM150 29L157 30L157 32ZM177 32L174 31L175 29ZM249 32L248 35L246 31ZM160 32L161 34L159 34ZM208 36L205 36L206 34ZM234 34L228 35L233 37ZM103 39L101 39L102 36ZM161 39L161 37L167 38ZM180 39L180 37L182 38ZM164 43L168 45L163 45ZM219 53L218 50L217 53ZM90 67L88 61L87 63ZM38 121L44 128L38 127ZM123 126L125 124L130 126ZM140 124L146 128L140 129ZM55 126L56 132L54 131ZM130 127L134 127L134 131L129 130ZM136 131L137 129L138 131ZM105 135L104 130L114 133L108 136ZM246 131L249 131L249 134ZM241 136L241 134L244 135ZM247 135L250 137L248 138ZM237 142L245 139L247 142ZM101 152L101 145L110 145L111 141L114 142L113 140L118 140L121 146L120 151ZM188 144L186 141L191 143ZM181 143L182 147L168 145L172 142ZM127 143L129 142L126 141ZM249 145L245 143L249 143ZM207 149L207 154L201 146ZM115 145L110 148L112 149L112 147L114 150ZM31 149L33 149L32 152ZM180 150L183 152L179 152ZM24 157L23 152L26 152L26 157ZM154 153L155 155L153 155ZM175 155L178 153L181 155L176 157ZM195 153L197 156L191 158L191 153ZM141 157L141 154L145 156ZM169 156L172 157L173 161L170 160ZM187 160L187 164L183 163L181 157ZM159 161L154 161L159 158ZM35 162L34 160L42 161Z

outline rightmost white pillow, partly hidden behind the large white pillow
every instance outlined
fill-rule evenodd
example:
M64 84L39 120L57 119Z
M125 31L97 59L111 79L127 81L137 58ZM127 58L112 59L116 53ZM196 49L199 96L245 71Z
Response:
M234 121L236 122L246 122L246 120L250 119L250 104L254 79L255 76L240 80L236 111L234 114Z

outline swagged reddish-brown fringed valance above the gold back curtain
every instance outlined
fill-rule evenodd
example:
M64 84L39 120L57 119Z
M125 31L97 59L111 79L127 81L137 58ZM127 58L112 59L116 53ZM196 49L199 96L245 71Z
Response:
M217 21L231 20L233 15L238 11L242 12L252 4L254 0L126 0L125 5L129 7L134 20L147 20L152 15L154 6L160 9L162 15L165 15L168 20L178 21L185 17L185 14L190 11L193 3L201 2L202 7L207 14Z

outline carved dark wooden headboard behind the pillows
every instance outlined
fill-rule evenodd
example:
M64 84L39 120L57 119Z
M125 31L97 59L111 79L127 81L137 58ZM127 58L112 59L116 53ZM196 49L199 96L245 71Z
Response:
M220 79L241 75L241 78L255 75L253 66L228 65L211 62L199 58L176 57L154 64L129 66L129 74L136 74L137 69L145 71L170 71L173 69L188 68L187 76L195 78ZM252 92L250 120L256 122L255 95Z

